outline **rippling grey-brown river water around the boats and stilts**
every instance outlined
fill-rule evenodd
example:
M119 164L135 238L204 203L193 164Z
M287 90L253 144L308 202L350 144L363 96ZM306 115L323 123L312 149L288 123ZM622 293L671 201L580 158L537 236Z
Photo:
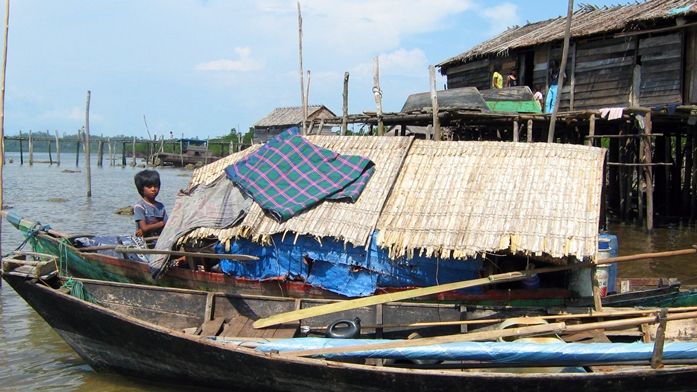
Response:
M114 235L133 231L132 217L116 215L114 211L139 198L133 176L141 168L108 165L99 168L92 162L92 197L88 198L84 165L75 167L74 154L62 154L60 167L47 163L29 166L26 160L20 166L16 153L8 153L7 158L3 189L5 208L9 211L70 233ZM34 158L48 161L47 154L35 154ZM174 168L158 170L162 180L158 199L171 210L177 190L186 186L191 172ZM697 230L691 227L660 227L648 235L633 225L615 224L609 231L620 238L620 255L684 249L697 244ZM2 254L11 252L23 240L5 221L1 235ZM697 284L697 256L626 263L620 265L619 276L676 277L685 283ZM96 373L7 284L3 284L0 288L0 390L176 391L178 388Z

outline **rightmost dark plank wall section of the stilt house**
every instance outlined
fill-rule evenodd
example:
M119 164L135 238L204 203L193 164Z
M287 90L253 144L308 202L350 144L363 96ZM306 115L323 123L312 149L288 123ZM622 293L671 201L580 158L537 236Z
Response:
M682 102L682 32L642 38L641 106Z

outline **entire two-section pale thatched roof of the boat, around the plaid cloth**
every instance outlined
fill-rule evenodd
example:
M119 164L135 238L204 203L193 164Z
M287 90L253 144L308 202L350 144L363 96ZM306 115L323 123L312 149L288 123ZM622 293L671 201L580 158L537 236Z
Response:
M238 227L197 229L189 238L265 240L287 232L365 246L378 229L378 245L393 256L416 251L463 258L508 249L553 257L595 256L604 149L395 136L309 139L375 162L375 175L356 203L325 202L284 223L254 204ZM244 154L198 169L192 183L221 175Z

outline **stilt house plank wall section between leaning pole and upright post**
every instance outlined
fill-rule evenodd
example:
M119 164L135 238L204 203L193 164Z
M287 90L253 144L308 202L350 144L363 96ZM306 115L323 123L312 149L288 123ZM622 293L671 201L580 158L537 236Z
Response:
M574 109L629 106L635 49L633 37L577 43ZM562 98L567 110L568 94Z

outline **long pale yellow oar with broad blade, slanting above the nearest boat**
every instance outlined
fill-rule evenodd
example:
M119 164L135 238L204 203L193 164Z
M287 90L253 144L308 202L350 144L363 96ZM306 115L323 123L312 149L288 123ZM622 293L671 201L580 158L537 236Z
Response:
M402 301L405 299L411 299L411 298L415 298L415 297L423 297L423 296L427 296L427 295L433 295L433 294L443 293L443 292L452 291L452 290L460 290L460 289L464 289L464 288L468 288L468 287L478 287L478 286L484 286L484 285L489 285L489 284L494 284L494 283L502 283L502 282L515 282L515 281L519 281L519 280L524 280L528 276L531 276L532 274L542 274L542 273L548 273L548 272L566 271L566 270L571 270L571 269L576 269L576 268L588 268L588 267L591 267L591 266L596 265L596 264L608 264L608 263L613 263L613 262L633 261L633 260L640 260L640 259L647 259L647 258L678 256L678 255L691 254L691 253L695 253L695 252L697 252L697 249L691 248L691 249L668 251L668 252L643 253L643 254L632 255L632 256L611 257L608 259L598 260L597 263L576 263L576 264L569 264L569 265L559 266L559 267L546 267L546 268L532 269L532 270L528 270L528 271L507 272L507 273L503 273L503 274L490 275L486 278L464 280L464 281L460 281L460 282L447 283L447 284L438 285L438 286L430 286L430 287L423 287L423 288L412 289L412 290L398 291L398 292L394 292L394 293L373 295L370 297L356 298L356 299L352 299L352 300L346 300L346 301L331 303L331 304L327 304L327 305L314 306L312 308L307 308L307 309L294 310L291 312L280 313L280 314L276 314L276 315L273 315L270 317L259 319L259 320L254 322L253 326L254 326L254 328L264 328L264 327L269 327L272 325L283 324L283 323L288 323L288 322L292 322L292 321L298 321L298 320L302 320L305 318L337 313L337 312L341 312L344 310L357 309L357 308L361 308L364 306L372 306L372 305L384 304L387 302Z

